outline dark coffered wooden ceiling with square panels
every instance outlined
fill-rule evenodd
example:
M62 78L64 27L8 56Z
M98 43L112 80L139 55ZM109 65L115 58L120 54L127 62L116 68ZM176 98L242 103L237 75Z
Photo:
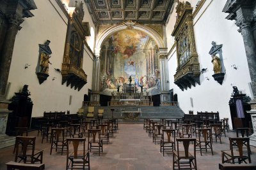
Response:
M143 24L164 24L173 0L84 0L93 22L109 24L132 20Z

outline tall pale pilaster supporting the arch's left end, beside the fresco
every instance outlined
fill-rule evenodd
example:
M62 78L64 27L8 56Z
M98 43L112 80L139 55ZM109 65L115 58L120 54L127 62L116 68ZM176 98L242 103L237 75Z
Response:
M95 48L95 57L93 59L93 81L92 81L92 102L100 102L100 48ZM100 103L99 103L100 105Z

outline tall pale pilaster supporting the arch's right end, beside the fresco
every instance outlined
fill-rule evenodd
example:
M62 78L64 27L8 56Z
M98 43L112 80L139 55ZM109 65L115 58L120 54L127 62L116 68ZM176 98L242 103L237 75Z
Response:
M159 66L161 75L161 104L170 102L169 93L169 73L168 73L168 61L167 61L167 48L159 48Z

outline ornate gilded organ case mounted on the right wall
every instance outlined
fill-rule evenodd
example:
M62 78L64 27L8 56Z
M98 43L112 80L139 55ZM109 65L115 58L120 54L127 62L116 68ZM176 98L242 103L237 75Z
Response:
M179 2L176 8L177 20L172 32L172 36L175 36L178 62L174 83L181 90L187 90L191 85L195 87L195 83L200 85L200 66L196 52L192 11L190 3Z

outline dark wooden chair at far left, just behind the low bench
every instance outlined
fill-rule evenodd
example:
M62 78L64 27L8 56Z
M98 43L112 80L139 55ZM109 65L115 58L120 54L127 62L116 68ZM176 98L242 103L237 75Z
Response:
M43 150L35 150L36 137L17 136L15 140L15 162L43 163ZM28 148L31 146L31 149Z

